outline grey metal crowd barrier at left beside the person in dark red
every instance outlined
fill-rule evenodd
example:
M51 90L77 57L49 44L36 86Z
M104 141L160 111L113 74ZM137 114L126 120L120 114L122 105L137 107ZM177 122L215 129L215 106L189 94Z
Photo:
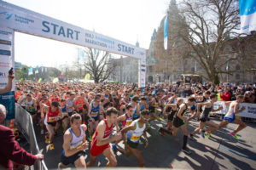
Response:
M25 111L19 104L15 104L15 126L18 127L20 133L22 133L26 140L30 144L30 150L33 155L39 153L38 141L36 133L34 131L32 116ZM30 167L37 170L48 170L44 160L36 161L36 163Z

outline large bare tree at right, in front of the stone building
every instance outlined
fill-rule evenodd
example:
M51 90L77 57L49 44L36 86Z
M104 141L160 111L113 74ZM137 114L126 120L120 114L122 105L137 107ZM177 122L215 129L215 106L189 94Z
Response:
M236 37L240 42L238 0L183 0L180 4L183 20L177 20L182 29L179 37L188 45L189 57L195 59L203 68L201 76L215 84L219 83L221 73L230 74L225 65L242 55L236 50L233 54L224 54L225 47ZM183 31L188 31L184 34Z

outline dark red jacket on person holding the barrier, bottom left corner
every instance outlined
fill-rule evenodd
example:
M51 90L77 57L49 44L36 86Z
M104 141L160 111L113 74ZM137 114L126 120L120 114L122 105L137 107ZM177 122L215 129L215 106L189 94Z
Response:
M3 167L12 169L12 161L23 165L33 165L36 160L36 156L20 148L15 140L14 132L9 127L0 125L0 164Z

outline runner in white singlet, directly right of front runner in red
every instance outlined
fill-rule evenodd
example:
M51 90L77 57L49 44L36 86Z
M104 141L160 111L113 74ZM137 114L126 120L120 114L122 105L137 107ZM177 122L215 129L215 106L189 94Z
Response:
M125 150L117 148L119 152L127 157L133 154L138 161L139 167L144 167L144 161L143 156L140 154L139 150L137 150L137 146L143 136L145 139L145 148L148 147L148 138L145 129L149 119L149 111L143 110L141 112L141 116L137 120L131 122L131 125L121 130L122 137L125 142Z

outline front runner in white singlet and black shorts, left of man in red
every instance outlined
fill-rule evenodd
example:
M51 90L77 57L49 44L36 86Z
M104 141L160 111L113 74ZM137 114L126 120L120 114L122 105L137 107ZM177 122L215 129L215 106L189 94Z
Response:
M67 168L69 164L74 164L77 168L86 168L84 150L89 144L85 139L86 125L82 124L81 116L76 113L71 116L71 127L67 129L63 136L63 151L58 169Z

